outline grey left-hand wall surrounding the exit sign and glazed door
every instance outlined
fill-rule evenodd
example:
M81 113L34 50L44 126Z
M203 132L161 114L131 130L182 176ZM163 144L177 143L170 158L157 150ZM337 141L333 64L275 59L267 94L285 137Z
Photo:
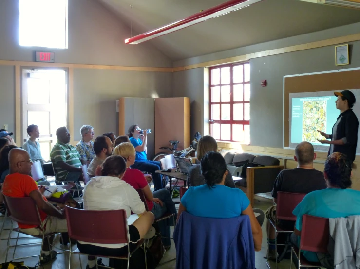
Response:
M23 65L18 61L32 62L36 50L55 52L56 63L108 65L102 70L73 69L74 76L69 78L75 100L74 118L70 119L74 130L70 131L75 134L75 141L80 139L78 130L83 124L92 124L96 134L105 131L117 134L115 100L119 97L171 96L171 73L109 70L116 68L112 66L171 67L169 58L150 43L125 45L130 29L95 0L69 0L68 13L68 49L20 47L19 0L0 1L1 128L8 124L10 131L16 130L14 66ZM14 62L1 66L1 60Z

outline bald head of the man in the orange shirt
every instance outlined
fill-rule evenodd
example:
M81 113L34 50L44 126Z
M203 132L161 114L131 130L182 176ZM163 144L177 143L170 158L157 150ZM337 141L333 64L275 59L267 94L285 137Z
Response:
M14 148L9 152L10 174L20 173L29 175L31 165L29 153L23 149Z

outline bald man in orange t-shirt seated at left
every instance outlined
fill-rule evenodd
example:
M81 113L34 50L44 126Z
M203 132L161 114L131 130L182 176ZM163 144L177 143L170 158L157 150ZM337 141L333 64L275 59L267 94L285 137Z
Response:
M49 233L67 232L65 212L58 210L42 195L45 187L38 188L34 179L29 176L32 161L29 153L25 150L14 148L9 153L10 174L6 176L3 193L10 197L31 197L36 205L45 231L34 225L18 223L21 232L28 235L43 235ZM40 264L46 264L54 260L57 252L50 249L48 241L44 240L41 250Z

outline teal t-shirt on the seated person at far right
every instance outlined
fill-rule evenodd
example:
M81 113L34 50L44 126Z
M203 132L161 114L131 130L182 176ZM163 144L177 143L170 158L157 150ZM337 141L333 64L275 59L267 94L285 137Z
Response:
M293 214L297 217L295 228L299 231L303 227L304 214L322 218L360 215L360 191L328 188L310 192L294 209ZM319 261L315 252L304 251L303 254L308 261Z

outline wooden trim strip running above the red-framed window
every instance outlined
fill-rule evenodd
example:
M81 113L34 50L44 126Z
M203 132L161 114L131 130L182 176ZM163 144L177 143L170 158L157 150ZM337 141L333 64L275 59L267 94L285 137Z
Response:
M321 48L321 47L326 47L326 46L331 46L331 45L336 45L336 44L341 44L341 43L346 43L346 42L352 42L352 41L357 41L357 40L360 40L360 34L350 34L350 35L325 39L325 40L321 40L321 41L315 41L315 42L306 43L306 44L289 46L289 47L284 47L284 48L279 48L279 49L274 49L274 50L265 50L265 51L254 52L254 53L250 53L250 54L239 55L239 56L234 56L234 57L225 58L225 59L219 59L219 60L214 60L214 61L209 61L209 62L204 62L204 63L198 63L198 64L193 64L193 65L189 65L189 66L185 66L185 67L175 67L172 69L172 71L178 72L178 71L184 71L184 70L200 68L200 67L210 67L210 66L223 65L223 64L234 63L234 62L248 61L249 59L253 59L253 58L283 54L283 53L294 52L294 51L299 51L299 50Z

